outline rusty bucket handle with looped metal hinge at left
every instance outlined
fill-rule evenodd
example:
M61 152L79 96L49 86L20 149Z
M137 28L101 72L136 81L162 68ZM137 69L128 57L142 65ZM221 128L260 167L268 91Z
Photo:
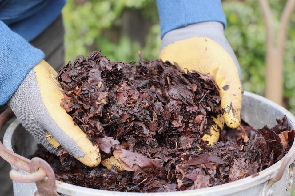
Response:
M0 114L0 130L14 117L13 111L8 108ZM35 157L27 159L7 149L0 141L0 156L8 163L21 168L29 174L22 174L18 169L12 169L9 176L12 180L18 182L35 182L37 191L35 195L39 196L58 196L55 187L55 175L50 165L43 159ZM47 179L45 179L47 176Z

